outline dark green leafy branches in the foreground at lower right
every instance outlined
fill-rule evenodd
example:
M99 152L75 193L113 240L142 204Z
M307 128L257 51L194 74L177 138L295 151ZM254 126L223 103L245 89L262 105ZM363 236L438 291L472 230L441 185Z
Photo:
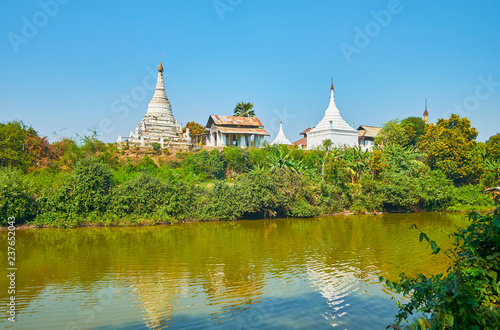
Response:
M500 187L489 190L497 194L498 206ZM407 328L500 328L500 208L486 215L470 213L469 220L466 229L451 234L455 241L446 251L452 260L448 274L407 277L402 273L398 282L380 278L397 293L410 295L408 303L397 303L396 324L389 327L401 329L401 323L408 323L410 315L417 313ZM431 245L433 254L441 251L420 231L423 240Z

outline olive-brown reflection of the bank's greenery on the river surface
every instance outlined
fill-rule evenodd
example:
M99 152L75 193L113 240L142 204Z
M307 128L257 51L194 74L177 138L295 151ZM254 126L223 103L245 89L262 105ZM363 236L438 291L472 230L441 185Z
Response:
M312 274L320 266L344 265L349 276L368 282L373 274L395 279L401 271L444 271L446 261L431 259L416 232L408 230L416 223L443 241L446 233L429 227L439 223L452 231L460 220L440 217L388 214L18 231L17 287L29 302L48 285L90 288L111 274L119 285L135 289L146 324L164 326L179 308L178 298L194 288L204 292L205 305L224 314L259 302L268 278ZM6 235L0 242L6 246ZM0 249L4 260L5 250ZM326 271L318 276L339 274ZM0 278L0 286L8 286L6 277ZM5 290L0 298L7 299Z

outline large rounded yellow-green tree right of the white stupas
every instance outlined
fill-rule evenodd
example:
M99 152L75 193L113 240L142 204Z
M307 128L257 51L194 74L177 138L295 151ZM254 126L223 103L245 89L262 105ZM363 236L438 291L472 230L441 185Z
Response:
M451 115L427 125L418 141L431 169L439 169L455 184L477 181L482 171L482 158L476 148L477 130L470 120Z

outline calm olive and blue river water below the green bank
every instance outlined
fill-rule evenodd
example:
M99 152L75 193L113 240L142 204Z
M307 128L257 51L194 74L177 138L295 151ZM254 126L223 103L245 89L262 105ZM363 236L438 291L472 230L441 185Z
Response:
M17 231L17 329L385 329L378 277L436 273L462 214ZM7 235L0 258L7 260ZM5 265L5 263L4 263ZM6 306L7 278L0 278ZM395 296L400 299L400 297Z

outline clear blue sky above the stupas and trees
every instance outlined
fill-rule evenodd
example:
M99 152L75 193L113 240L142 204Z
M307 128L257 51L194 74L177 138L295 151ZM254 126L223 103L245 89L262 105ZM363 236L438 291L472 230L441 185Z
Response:
M57 139L126 136L162 52L175 118L206 124L253 102L274 138L316 125L334 77L349 124L467 116L498 133L500 3L485 0L4 0L0 121ZM53 133L56 132L56 135Z

